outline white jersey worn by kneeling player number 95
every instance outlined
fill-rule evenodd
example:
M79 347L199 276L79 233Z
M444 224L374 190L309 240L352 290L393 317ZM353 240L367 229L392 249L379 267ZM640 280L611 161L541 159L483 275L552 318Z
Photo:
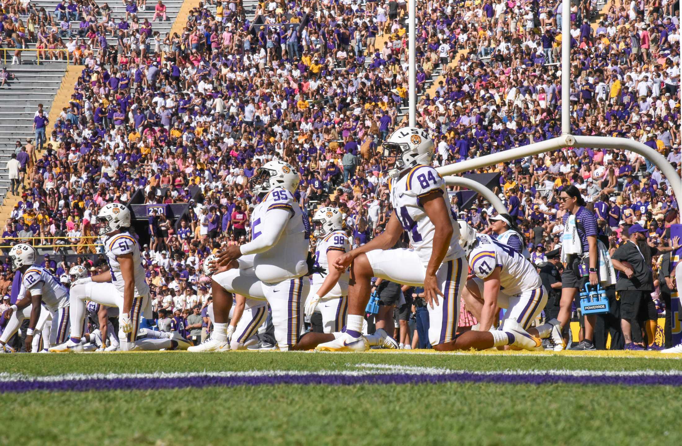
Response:
M306 257L310 239L310 222L291 192L283 187L269 191L251 214L251 240L261 234L261 222L267 212L284 209L291 211L284 232L277 242L264 253L254 255L254 270L259 280L267 283L285 281L308 273Z

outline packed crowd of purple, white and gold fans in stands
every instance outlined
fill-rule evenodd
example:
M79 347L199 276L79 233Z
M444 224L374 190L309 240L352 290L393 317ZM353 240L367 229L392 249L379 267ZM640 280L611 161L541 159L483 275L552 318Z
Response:
M67 236L59 243L78 244L92 236L98 208L127 202L140 188L149 204L188 202L179 225L150 219L143 251L157 308L189 310L209 293L203 259L249 240L256 198L248 180L272 159L299 172L304 208L344 212L354 246L381 233L392 209L378 149L403 122L406 3L262 2L257 25L235 1L209 3L190 12L182 35L163 40L136 18L139 2L128 3L124 25L94 2L68 1L67 10L75 4L74 16L86 22L72 35L58 31L68 13L3 3L4 43L38 39L50 48L68 37L72 57L85 65L70 106L46 123L45 144L17 144L26 179L3 237L46 244ZM561 67L561 3L424 2L417 9L417 123L434 139L434 165L559 136L568 106L560 75L570 69L572 133L634 138L679 170L678 8L672 0L616 1L593 28L597 5L574 3L572 66ZM119 35L116 46L106 47L106 33ZM538 265L561 241L558 198L568 185L596 213L612 252L624 225L634 223L649 231L652 245L673 243L679 206L670 181L636 153L562 149L477 171L484 172L501 173L496 193ZM200 196L192 195L195 186ZM461 200L453 189L462 219L481 231L494 224L496 212L482 197L466 208ZM55 249L57 257L64 252ZM652 259L655 271L661 257ZM81 261L101 267L97 259ZM0 274L6 270L0 266ZM460 325L473 323L462 312Z

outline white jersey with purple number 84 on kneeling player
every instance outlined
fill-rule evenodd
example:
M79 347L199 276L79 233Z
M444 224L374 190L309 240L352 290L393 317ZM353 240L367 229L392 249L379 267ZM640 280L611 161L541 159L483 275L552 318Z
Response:
M464 256L464 251L459 244L460 227L453 215L452 206L447 200L445 180L434 168L428 165L417 165L399 180L389 182L389 190L391 191L391 204L393 204L396 217L400 220L403 229L409 234L412 248L419 255L422 263L428 264L431 258L436 227L428 219L419 198L433 191L440 191L443 194L442 200L450 212L450 223L453 228L450 246L445 253L443 262Z

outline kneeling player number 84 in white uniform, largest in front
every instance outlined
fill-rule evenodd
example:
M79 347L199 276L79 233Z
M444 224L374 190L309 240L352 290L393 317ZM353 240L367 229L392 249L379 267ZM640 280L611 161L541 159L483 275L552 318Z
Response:
M535 347L539 340L525 332L465 332L455 338L460 293L466 280L466 257L458 244L459 227L450 206L445 180L430 167L433 141L423 129L396 130L383 143L389 171L389 191L394 212L385 231L349 253L333 266L351 266L349 316L346 330L318 350L362 351L364 310L372 276L402 285L423 286L430 318L429 340L436 350L488 349L499 345ZM403 232L412 249L390 249ZM521 336L517 336L516 334Z

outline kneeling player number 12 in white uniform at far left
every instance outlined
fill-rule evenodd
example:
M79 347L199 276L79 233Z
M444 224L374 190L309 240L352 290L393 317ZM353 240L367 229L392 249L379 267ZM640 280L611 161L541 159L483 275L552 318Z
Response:
M41 351L40 332L50 320L51 345L63 343L68 334L69 291L51 272L35 264L36 257L35 249L29 244L16 244L10 249L10 268L16 271L16 274L22 274L18 293L22 299L5 310L4 316L8 323L0 336L0 353L14 352L7 342L17 332L24 319L29 319L26 351ZM34 339L36 333L38 336Z

